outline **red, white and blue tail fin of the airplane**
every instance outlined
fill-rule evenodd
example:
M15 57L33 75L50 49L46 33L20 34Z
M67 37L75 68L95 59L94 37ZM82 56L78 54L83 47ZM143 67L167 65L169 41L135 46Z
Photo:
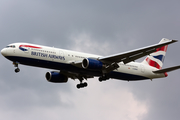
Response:
M163 42L167 42L167 41L169 41L169 39L163 38L159 43L163 43ZM146 65L150 65L150 66L155 67L157 69L161 69L163 66L167 47L168 47L168 45L163 46L161 48L157 48L156 52L148 55L142 63L144 63Z

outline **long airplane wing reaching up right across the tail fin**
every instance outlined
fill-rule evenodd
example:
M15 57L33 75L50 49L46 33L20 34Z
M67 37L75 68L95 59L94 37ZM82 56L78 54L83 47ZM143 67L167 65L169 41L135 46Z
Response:
M155 52L157 48L163 47L165 45L168 45L174 42L177 42L177 40L170 40L168 42L158 43L158 44L143 47L140 49L135 49L135 50L124 52L124 53L101 57L98 60L107 64L118 63L118 62L123 62L124 64L126 64L126 63L137 60L141 57L144 57L146 55L149 55Z

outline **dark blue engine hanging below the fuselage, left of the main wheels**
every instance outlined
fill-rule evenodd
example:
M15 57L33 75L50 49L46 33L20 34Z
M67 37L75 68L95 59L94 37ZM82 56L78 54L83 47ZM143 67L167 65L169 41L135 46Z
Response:
M46 79L49 82L53 82L53 83L66 83L68 81L68 77L60 74L59 72L47 72L46 73Z

